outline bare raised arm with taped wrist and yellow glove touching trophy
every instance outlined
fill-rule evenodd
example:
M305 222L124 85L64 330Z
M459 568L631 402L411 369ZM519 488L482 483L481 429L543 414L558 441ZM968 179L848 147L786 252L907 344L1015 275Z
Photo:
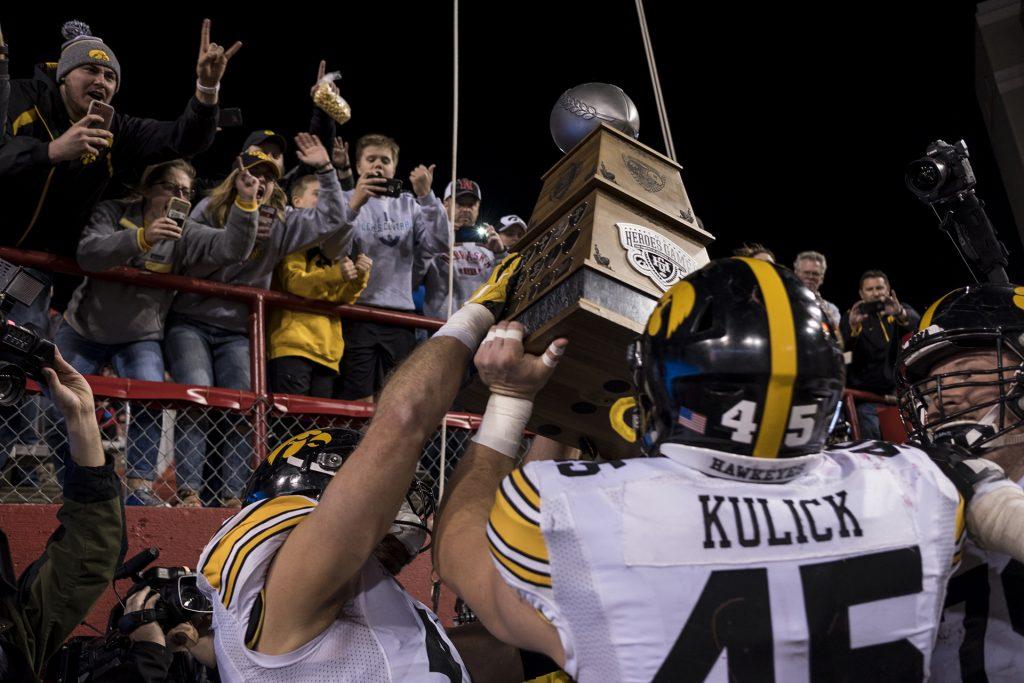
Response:
M337 618L352 582L387 533L426 439L437 428L466 365L504 304L511 267L496 269L432 339L385 385L367 435L291 532L266 580L259 650L290 652Z

